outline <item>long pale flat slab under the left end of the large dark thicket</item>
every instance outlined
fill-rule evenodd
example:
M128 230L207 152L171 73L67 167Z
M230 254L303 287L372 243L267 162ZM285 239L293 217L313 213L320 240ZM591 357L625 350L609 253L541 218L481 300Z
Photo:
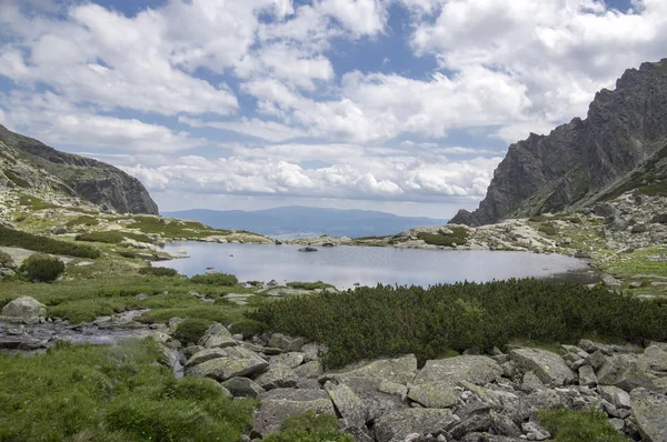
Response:
M348 365L341 370L331 371L320 376L320 382L345 378L375 378L406 384L417 373L417 358L408 354L395 359L378 359Z

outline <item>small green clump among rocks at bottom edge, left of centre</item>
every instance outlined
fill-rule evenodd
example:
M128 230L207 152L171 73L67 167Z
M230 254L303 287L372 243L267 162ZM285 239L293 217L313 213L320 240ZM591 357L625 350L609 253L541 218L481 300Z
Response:
M286 419L280 432L269 434L263 442L354 442L355 438L338 430L338 419L331 414L307 411Z

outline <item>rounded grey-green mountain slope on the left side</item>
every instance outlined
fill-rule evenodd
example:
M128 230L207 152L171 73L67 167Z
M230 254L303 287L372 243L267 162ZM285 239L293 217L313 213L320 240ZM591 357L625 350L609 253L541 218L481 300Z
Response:
M0 185L51 189L119 213L159 214L139 180L90 158L60 152L0 124Z

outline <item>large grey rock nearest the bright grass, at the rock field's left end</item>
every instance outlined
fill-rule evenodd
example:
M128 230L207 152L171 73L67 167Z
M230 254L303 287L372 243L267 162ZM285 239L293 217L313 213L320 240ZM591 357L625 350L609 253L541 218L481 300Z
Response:
M187 374L195 378L212 378L226 381L233 376L249 376L263 372L269 363L256 353L240 346L220 349L223 358L211 359L190 368Z

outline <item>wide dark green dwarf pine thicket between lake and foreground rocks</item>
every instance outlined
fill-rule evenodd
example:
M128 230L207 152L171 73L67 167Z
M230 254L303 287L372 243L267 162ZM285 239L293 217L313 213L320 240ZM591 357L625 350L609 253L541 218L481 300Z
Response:
M598 285L508 280L359 288L280 300L250 318L273 332L326 342L325 362L504 346L512 338L571 342L589 334L628 341L667 339L667 309ZM293 318L299 318L295 321Z

